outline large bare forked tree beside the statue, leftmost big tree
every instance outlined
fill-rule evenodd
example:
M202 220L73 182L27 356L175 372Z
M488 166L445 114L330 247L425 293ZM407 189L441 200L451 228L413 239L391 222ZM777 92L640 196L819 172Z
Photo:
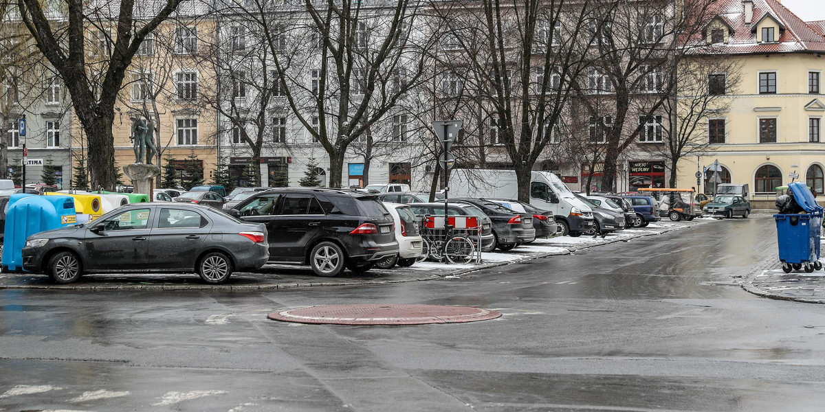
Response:
M75 115L88 138L92 187L115 187L112 124L126 70L144 38L182 0L135 4L17 0L20 18L45 58L64 80Z

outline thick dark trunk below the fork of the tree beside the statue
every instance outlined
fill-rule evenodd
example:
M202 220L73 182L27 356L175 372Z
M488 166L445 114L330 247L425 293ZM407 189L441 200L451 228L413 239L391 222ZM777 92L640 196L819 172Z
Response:
M80 117L78 113L78 117ZM84 116L86 117L86 116ZM88 169L92 190L115 190L115 136L111 133L115 115L97 113L80 119L88 137Z

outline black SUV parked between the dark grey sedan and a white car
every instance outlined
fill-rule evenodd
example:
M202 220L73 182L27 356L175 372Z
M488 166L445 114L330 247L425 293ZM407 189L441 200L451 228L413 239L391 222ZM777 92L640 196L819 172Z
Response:
M270 262L311 265L318 276L362 273L398 254L392 215L374 194L333 189L271 189L229 214L266 223Z

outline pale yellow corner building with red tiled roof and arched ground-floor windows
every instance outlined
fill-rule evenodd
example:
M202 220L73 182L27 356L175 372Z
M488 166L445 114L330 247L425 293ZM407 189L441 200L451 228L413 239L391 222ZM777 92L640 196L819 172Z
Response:
M729 106L707 116L710 143L687 157L678 185L695 186L695 172L714 161L724 183L747 184L754 207L771 207L775 187L807 181L823 194L825 35L819 21L804 22L775 0L725 2L709 22L707 53L738 63L738 84L724 92ZM727 73L714 73L718 79ZM698 162L697 162L698 161ZM702 190L713 191L703 176Z

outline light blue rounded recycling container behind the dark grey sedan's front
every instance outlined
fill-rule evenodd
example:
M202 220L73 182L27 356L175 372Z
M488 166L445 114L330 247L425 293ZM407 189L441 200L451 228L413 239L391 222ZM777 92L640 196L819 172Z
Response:
M19 196L16 198L16 196ZM13 201L13 203L12 203ZM26 238L35 233L77 222L74 199L70 196L35 196L12 194L6 213L6 227L2 244L3 269L22 269L23 246Z

